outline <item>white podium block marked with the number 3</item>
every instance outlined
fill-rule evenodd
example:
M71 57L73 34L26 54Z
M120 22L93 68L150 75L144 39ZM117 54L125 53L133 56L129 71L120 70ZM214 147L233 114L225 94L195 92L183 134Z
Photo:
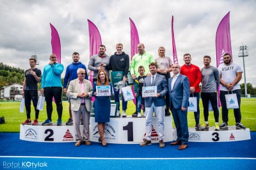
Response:
M177 139L176 129L173 129L173 139ZM236 126L215 131L215 127L209 127L204 131L198 131L195 127L189 127L189 142L230 142L250 140L250 129L236 129Z

